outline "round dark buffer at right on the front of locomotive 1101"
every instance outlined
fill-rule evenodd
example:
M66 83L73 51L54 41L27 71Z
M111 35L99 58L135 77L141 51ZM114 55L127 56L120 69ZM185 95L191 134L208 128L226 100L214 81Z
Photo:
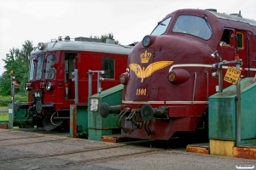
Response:
M145 104L141 109L141 116L144 121L150 121L155 118L168 118L168 107L153 108L151 105Z

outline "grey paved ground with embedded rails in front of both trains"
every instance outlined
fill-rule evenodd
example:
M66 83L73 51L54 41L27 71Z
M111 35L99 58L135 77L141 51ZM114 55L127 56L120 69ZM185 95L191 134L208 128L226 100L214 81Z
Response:
M107 143L42 132L0 129L0 169L256 168L254 160L190 153L185 148L154 148L143 141Z

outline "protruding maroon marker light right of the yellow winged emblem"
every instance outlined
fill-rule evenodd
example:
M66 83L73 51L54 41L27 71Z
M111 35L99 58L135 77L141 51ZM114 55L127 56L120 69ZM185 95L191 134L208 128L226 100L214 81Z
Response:
M168 74L168 81L172 84L181 84L189 80L189 72L184 69L174 69Z

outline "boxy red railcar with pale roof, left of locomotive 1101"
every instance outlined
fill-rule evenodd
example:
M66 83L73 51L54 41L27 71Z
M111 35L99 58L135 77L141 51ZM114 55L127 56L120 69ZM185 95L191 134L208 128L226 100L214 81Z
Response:
M85 37L74 40L59 37L51 42L40 42L38 48L32 50L29 80L25 85L29 92L28 103L15 102L15 111L28 109L32 125L52 130L68 120L69 107L75 103L76 95L78 105L87 105L89 70L104 71L101 76L103 90L119 84L119 75L125 71L131 46ZM78 87L75 86L75 71L78 72ZM92 77L92 94L98 92L97 81L97 77Z

